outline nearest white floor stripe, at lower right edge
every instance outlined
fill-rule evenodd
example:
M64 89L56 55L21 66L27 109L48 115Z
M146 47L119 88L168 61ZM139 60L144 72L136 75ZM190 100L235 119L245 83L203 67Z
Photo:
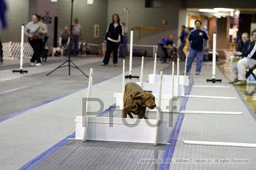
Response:
M183 140L182 142L183 142L183 144L188 144L188 145L210 145L210 146L231 146L231 147L256 148L256 144L249 144L249 143L211 142L211 141L195 141L195 140Z

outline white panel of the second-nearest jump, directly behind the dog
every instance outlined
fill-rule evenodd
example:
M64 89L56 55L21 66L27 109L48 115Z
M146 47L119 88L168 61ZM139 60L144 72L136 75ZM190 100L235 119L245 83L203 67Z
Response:
M143 82L144 83L144 82ZM155 96L155 103L158 103L158 94L154 94ZM114 93L113 97L116 98L115 105L119 106L119 109L123 109L123 95L122 93ZM161 109L163 112L168 112L169 109L169 102L171 100L171 95L162 95L162 101L161 101ZM174 101L173 105L176 106L176 109L173 109L173 112L179 112L180 111L180 100ZM153 109L155 111L155 109Z

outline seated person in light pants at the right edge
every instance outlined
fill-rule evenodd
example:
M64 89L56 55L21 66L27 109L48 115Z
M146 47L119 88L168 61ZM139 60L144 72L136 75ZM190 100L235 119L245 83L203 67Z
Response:
M234 78L232 83L234 83L234 85L246 85L246 69L253 68L256 65L256 30L253 30L251 35L252 42L248 46L249 49L247 51L245 51L246 49L243 50L243 58L232 68L232 76Z

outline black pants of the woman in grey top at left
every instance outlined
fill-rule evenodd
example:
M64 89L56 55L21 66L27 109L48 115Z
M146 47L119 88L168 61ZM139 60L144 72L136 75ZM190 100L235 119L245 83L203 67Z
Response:
M34 63L35 61L37 63L41 63L41 54L43 49L43 40L42 39L33 39L29 41L29 44L32 46L34 50L34 54L30 60L31 63Z

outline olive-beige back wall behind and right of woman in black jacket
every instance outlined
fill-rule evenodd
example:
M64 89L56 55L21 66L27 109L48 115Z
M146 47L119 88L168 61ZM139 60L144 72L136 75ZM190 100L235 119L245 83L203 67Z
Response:
M128 29L132 26L163 26L163 31L134 31L134 44L157 44L169 34L177 37L182 1L161 1L163 4L161 8L145 8L145 0L108 0L108 24L114 13L120 15L121 22L126 22L126 13L123 12L123 8L128 8ZM167 20L167 25L162 25L163 19Z

